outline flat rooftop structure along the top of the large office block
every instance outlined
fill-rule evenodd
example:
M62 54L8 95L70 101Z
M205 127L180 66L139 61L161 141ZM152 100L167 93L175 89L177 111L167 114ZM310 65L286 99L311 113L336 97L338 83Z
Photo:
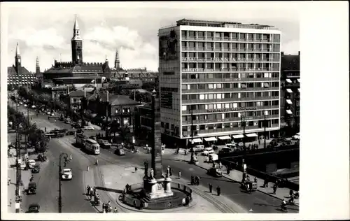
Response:
M181 19L176 22L176 26L189 25L189 26L206 26L206 27L229 27L229 28L241 28L241 29L267 29L277 30L276 27L263 25L263 24L243 24L241 22L219 22L219 21L207 21L207 20L188 20ZM167 27L164 27L167 28Z

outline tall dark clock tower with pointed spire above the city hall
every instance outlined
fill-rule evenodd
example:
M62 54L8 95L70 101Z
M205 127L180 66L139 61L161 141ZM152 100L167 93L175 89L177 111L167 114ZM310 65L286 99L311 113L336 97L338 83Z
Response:
M73 27L73 38L71 38L71 59L73 64L83 62L83 39L80 37L80 29L78 24L78 16Z

